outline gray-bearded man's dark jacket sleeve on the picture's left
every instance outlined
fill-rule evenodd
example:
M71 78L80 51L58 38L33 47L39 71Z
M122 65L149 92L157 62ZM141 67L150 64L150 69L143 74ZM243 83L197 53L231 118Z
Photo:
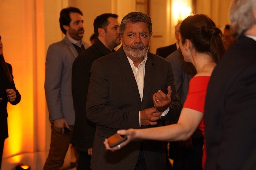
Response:
M103 66L98 60L94 61L86 104L87 119L112 129L139 128L139 111L120 110L109 105L109 87Z

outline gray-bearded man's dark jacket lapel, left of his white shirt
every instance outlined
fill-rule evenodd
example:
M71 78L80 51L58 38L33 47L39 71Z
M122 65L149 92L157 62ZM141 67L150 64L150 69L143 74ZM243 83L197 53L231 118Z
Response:
M137 85L137 82L135 80L135 77L134 77L132 68L130 66L130 63L127 59L127 56L124 53L123 46L121 46L117 50L117 62L120 65L121 70L123 71L124 75L126 76L131 88L134 90L134 94L135 94L135 98L136 98L136 101L134 101L134 102L141 103L138 85Z

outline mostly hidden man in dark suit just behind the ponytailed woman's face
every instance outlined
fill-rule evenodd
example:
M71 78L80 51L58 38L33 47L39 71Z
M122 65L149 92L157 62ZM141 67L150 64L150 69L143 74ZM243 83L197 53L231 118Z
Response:
M164 46L164 47L156 49L156 55L166 58L167 56L169 56L170 54L172 54L174 51L176 51L178 49L178 47L179 47L178 36L180 35L180 24L181 24L181 21L178 22L177 25L175 26L175 38L176 38L177 42L172 45Z

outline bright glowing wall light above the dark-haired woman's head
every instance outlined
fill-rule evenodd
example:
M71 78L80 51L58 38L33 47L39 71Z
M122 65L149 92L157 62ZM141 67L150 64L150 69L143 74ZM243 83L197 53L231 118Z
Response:
M191 14L191 0L173 0L172 18L178 22Z

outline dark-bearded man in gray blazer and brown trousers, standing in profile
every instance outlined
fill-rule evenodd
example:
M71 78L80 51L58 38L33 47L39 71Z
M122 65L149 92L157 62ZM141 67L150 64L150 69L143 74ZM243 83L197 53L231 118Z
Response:
M78 8L63 9L59 22L60 29L66 36L60 42L50 45L46 56L44 88L52 133L44 170L60 169L64 163L75 122L71 93L72 64L78 54L89 47L82 41L84 20Z

